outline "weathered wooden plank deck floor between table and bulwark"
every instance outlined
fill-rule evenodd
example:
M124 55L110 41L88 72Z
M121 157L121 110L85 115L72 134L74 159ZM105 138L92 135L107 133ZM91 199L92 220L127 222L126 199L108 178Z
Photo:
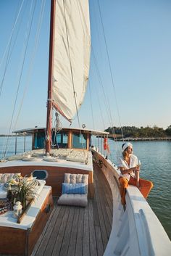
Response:
M101 256L112 228L112 192L104 174L94 165L95 197L88 206L57 205L31 256ZM40 223L41 225L41 223Z

